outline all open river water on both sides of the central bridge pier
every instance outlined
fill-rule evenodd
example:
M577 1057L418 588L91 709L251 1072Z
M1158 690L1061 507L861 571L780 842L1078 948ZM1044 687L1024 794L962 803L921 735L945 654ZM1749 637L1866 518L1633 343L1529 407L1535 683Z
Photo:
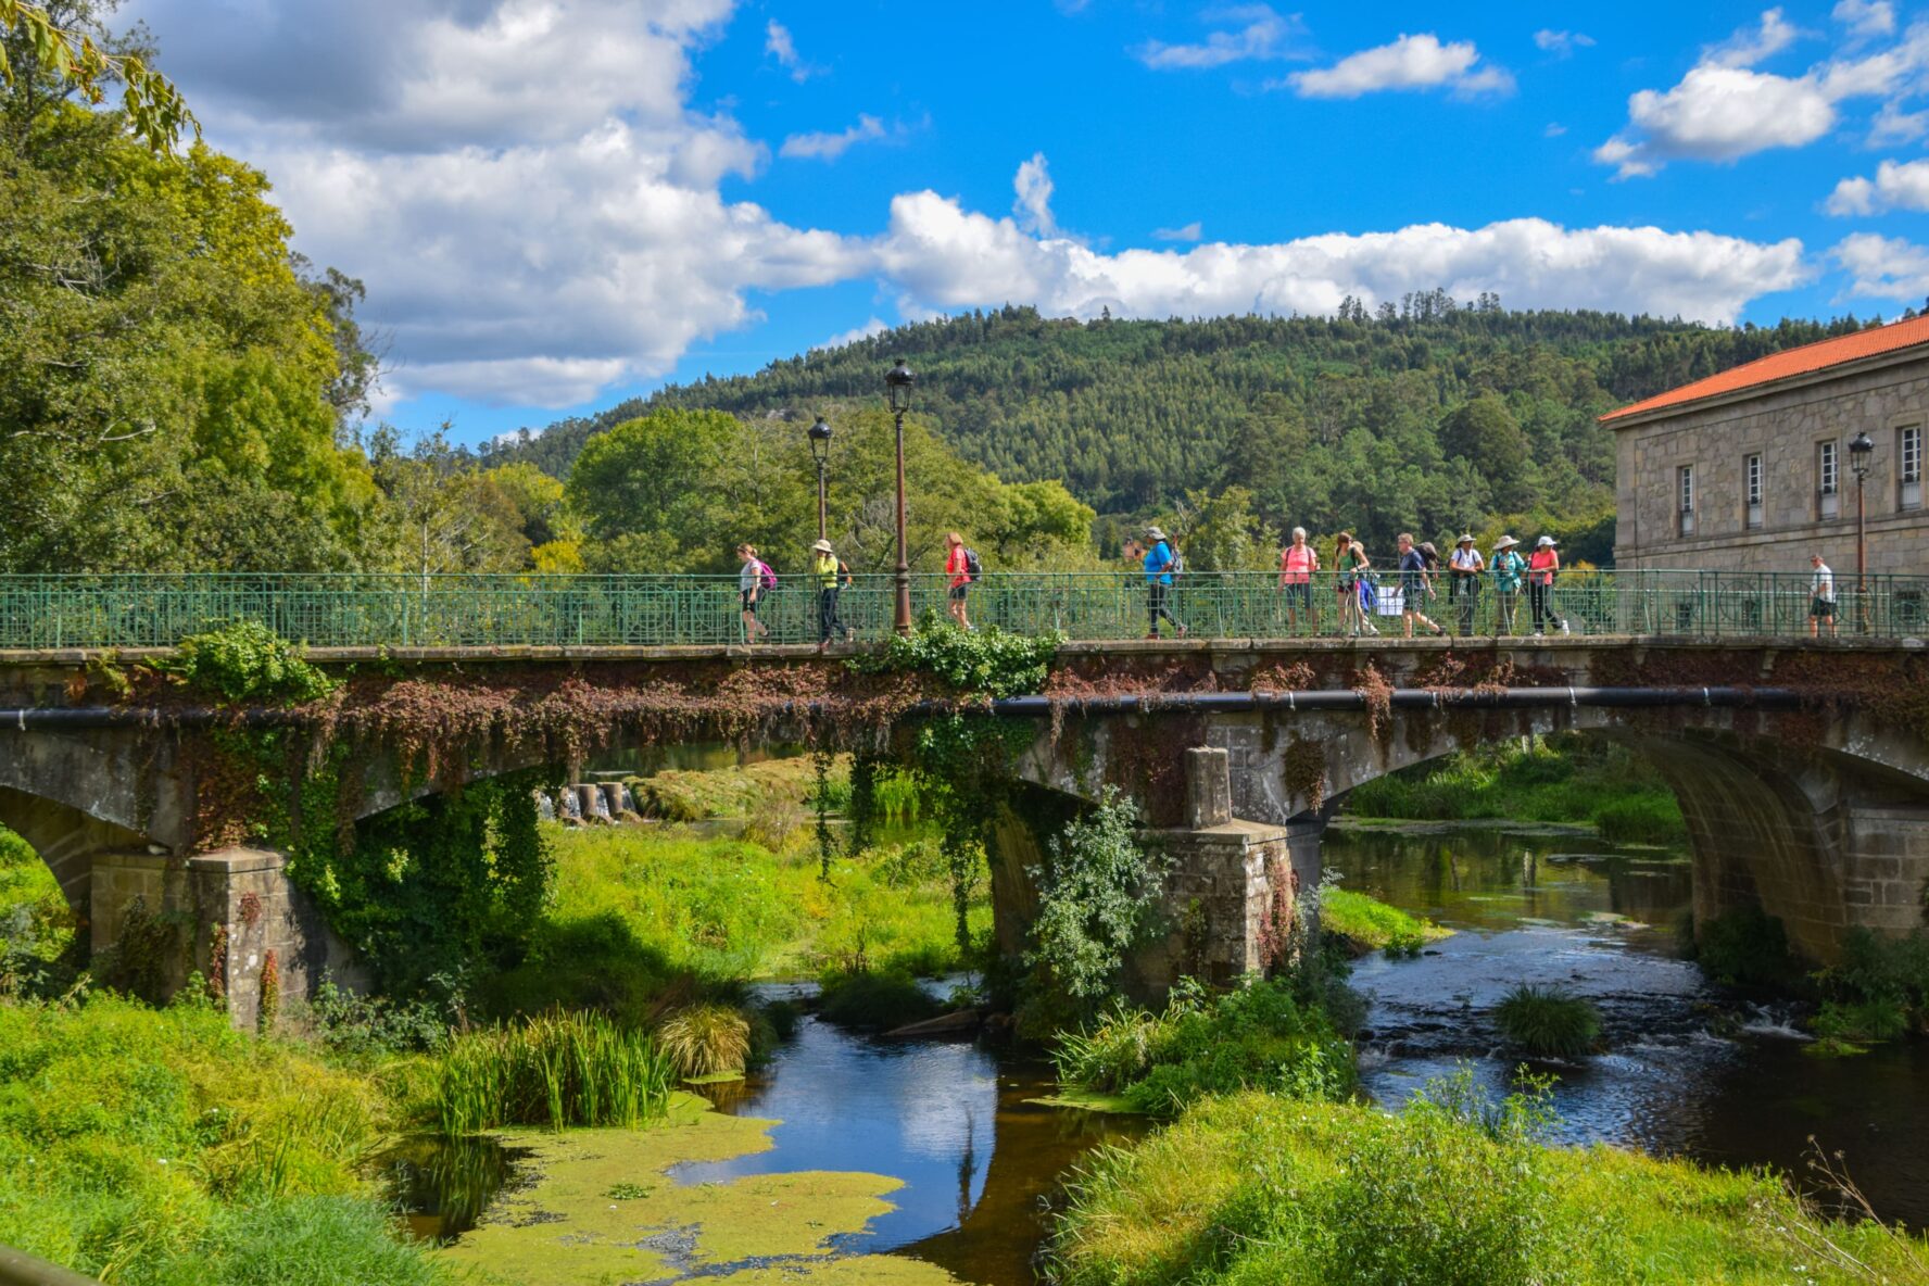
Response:
M1601 1008L1607 1051L1537 1068L1555 1078L1559 1141L1800 1174L1815 1138L1844 1153L1885 1219L1929 1222L1929 1051L1914 1041L1815 1058L1788 1010L1709 987L1674 941L1690 893L1684 854L1615 850L1586 833L1333 827L1325 860L1345 887L1454 929L1420 958L1354 966L1370 1001L1362 1082L1387 1107L1460 1066L1505 1093L1514 1058L1491 1006L1518 981L1561 983ZM891 1209L829 1247L1026 1286L1047 1201L1078 1157L1146 1128L1032 1101L1051 1089L1046 1064L1009 1051L874 1041L804 1018L750 1080L706 1089L721 1112L775 1122L770 1147L679 1165L667 1178L714 1188L802 1172L889 1176L903 1182ZM415 1209L455 1215L419 1222L422 1234L461 1232L503 1178L515 1186L513 1153L484 1149L451 1168L467 1176L459 1192L411 1193Z

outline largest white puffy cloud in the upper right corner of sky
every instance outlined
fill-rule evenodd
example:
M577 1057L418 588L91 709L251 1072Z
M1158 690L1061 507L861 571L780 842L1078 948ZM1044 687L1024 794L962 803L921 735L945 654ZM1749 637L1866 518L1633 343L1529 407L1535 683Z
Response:
M1667 91L1628 98L1628 125L1595 148L1615 177L1651 175L1671 160L1732 162L1777 147L1806 147L1834 129L1846 98L1908 91L1929 67L1929 27L1865 58L1834 58L1802 75L1753 64L1796 39L1780 10L1753 29L1703 50L1701 62Z

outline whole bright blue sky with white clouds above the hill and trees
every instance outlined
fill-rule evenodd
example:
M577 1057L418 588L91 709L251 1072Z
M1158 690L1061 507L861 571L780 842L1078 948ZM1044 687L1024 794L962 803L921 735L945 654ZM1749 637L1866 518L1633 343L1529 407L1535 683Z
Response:
M1771 322L1929 295L1929 13L133 0L384 415L476 442L997 303L1445 285Z

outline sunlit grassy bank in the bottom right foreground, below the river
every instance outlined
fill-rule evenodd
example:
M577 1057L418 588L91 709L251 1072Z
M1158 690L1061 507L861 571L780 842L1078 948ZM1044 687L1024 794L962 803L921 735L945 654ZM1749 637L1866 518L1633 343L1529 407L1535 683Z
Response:
M1470 1097L1400 1114L1208 1099L1096 1155L1051 1244L1063 1286L1915 1282L1921 1240L1829 1222L1773 1178L1534 1141ZM1850 1269L1854 1259L1865 1265Z

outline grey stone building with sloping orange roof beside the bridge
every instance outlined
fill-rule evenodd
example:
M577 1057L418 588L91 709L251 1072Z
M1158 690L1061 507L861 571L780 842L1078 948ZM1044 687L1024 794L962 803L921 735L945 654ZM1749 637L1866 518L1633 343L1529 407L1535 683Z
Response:
M1850 442L1867 434L1869 573L1929 575L1929 316L1773 353L1601 422L1617 434L1617 567L1806 575L1819 551L1852 575Z

